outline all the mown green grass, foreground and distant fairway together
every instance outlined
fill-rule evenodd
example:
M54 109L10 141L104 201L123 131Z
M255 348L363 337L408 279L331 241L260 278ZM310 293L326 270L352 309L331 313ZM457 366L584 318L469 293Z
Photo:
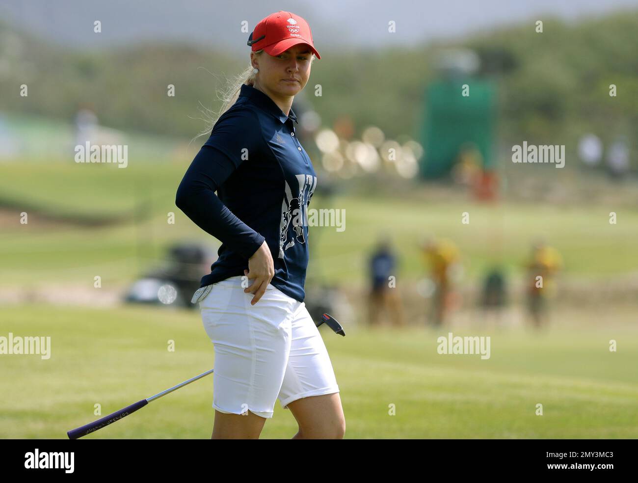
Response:
M197 149L192 151L194 156ZM197 239L216 246L174 204L191 154L179 163L138 163L131 157L126 169L72 161L4 163L0 192L12 208L0 211L0 290L26 291L36 285L73 290L68 287L93 287L95 276L112 290L156 265L175 241ZM311 209L344 209L346 229L310 228L307 280L360 293L367 256L381 233L392 235L400 256L397 286L426 274L417 248L425 234L456 242L465 286L477 283L497 262L512 280L520 279L538 235L563 255L561 277L590 287L583 300L597 295L607 281L638 269L638 210L628 204L491 206L461 195L418 201L426 190L415 186L405 197L314 197ZM96 228L38 218L38 207L77 216L130 214L144 200L152 201L151 216L137 226L128 221ZM31 211L27 225L20 224L21 203ZM610 211L618 213L616 225L609 224ZM170 212L174 224L167 222ZM469 225L461 223L463 212L470 213ZM561 300L556 304L556 325L542 335L474 326L453 331L491 336L488 360L439 355L436 339L447 330L371 332L335 314L346 338L322 333L341 389L346 438L638 438L635 301L627 297L622 307L601 304L595 309L591 304L570 308ZM480 315L469 315L466 320L480 322ZM69 429L214 363L197 311L7 305L0 336L9 332L50 336L52 357L0 355L0 438L66 438ZM609 352L610 339L618 341L618 352ZM175 352L168 352L169 340L175 341ZM209 438L212 382L207 376L88 438ZM535 415L538 403L542 416ZM100 415L94 414L96 404ZM292 414L279 403L275 408L262 438L292 437L297 431Z

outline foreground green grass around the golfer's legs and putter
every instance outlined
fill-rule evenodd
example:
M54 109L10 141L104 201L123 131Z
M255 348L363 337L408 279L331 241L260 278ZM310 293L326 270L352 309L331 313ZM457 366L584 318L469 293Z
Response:
M609 320L581 325L581 315L544 335L492 332L488 360L439 355L436 338L447 330L349 331L341 320L345 338L322 334L346 438L638 438L638 329ZM52 356L0 355L0 438L66 438L69 429L213 367L197 311L7 306L0 336L8 332L50 336ZM609 352L609 339L618 352ZM207 376L87 438L210 438L212 382ZM277 402L262 438L296 430Z

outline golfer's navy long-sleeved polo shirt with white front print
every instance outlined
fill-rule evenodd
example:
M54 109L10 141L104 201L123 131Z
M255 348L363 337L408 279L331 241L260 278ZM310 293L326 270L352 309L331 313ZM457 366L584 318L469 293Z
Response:
M304 301L308 205L317 179L293 122L299 124L292 109L284 114L267 94L244 84L186 171L175 205L222 242L200 286L244 275L265 240L272 285Z

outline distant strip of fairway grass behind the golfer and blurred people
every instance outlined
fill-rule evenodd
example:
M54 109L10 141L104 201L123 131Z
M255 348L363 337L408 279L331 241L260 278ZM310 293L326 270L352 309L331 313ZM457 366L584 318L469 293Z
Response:
M73 162L5 163L0 192L15 207L2 219L4 281L0 283L26 285L36 279L93 284L96 275L105 284L130 283L139 271L155 263L152 258L163 258L174 241L198 239L218 245L175 206L175 191L189 162L187 158L180 163L131 163L125 169ZM415 186L414 190L427 188ZM29 214L27 225L20 224L20 200L29 207L64 214L113 216L132 213L147 197L152 200L151 218L139 226L132 222L100 228L40 225L37 213L34 218ZM380 233L392 235L401 257L398 275L409 280L424 274L417 242L425 234L454 241L472 280L498 262L519 276L531 242L542 234L563 255L568 278L600 280L638 269L635 207L586 204L558 209L551 204L515 202L493 207L461 197L453 202L428 202L344 194L329 200L318 195L311 208L345 210L345 230L309 228L308 276L331 283L365 283L366 256ZM616 225L609 224L610 211L618 213ZM168 223L170 212L175 223ZM468 225L461 223L463 212L470 214Z

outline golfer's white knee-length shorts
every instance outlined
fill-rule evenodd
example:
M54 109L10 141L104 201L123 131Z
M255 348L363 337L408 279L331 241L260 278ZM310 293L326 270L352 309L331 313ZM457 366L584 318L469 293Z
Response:
M241 281L236 276L212 284L200 302L215 352L212 407L271 418L276 399L287 409L300 398L339 392L306 304L269 284L252 306L255 294L244 292Z

